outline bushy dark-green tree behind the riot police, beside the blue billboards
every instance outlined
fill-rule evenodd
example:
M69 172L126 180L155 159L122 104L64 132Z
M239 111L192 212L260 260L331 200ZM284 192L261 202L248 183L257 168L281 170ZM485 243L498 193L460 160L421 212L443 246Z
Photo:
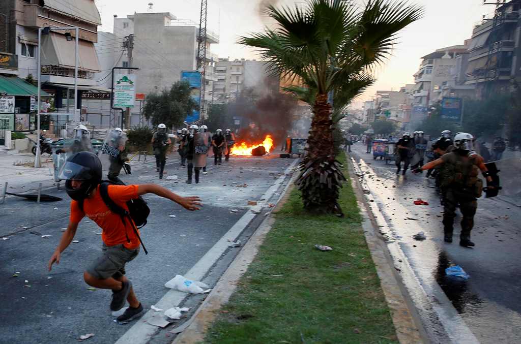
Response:
M170 90L165 88L159 94L148 95L143 115L147 120L152 119L154 126L164 123L167 128L176 128L197 109L199 104L192 98L188 81L178 81Z

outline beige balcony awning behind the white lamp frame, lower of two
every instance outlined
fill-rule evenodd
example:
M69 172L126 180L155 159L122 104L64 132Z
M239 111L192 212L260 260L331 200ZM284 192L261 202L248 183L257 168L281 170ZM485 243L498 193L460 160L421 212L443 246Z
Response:
M75 67L74 40L67 41L65 35L50 32L42 35L42 66L57 66L73 69ZM78 68L89 72L100 72L94 43L80 40L78 49Z

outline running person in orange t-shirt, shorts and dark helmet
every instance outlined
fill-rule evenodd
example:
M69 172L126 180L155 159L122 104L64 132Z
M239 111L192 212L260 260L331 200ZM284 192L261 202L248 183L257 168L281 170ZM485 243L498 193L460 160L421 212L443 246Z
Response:
M130 307L117 317L120 324L125 324L144 313L132 283L125 276L126 264L140 251L140 237L131 218L122 218L106 205L100 191L102 173L101 161L92 152L79 152L67 160L60 179L66 180L66 191L72 198L69 224L49 260L48 270L51 271L54 263L60 263L61 252L70 245L84 216L88 216L102 228L103 246L100 256L86 268L83 279L92 287L112 290L110 310L118 311L129 302ZM128 201L148 193L170 199L190 211L201 206L199 197L180 197L156 184L108 185L107 193L126 211L129 211Z

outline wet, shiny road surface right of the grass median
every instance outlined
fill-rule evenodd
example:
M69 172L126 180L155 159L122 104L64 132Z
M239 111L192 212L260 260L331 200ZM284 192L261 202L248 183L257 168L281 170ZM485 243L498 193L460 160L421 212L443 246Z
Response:
M519 202L515 190L519 184L518 159L498 163L504 171L500 173L503 185L509 186L505 192L508 197L478 200L472 231L476 247L472 249L458 245L459 213L454 243L443 242L443 207L432 179L410 171L405 176L397 175L393 161L386 164L374 160L362 144L352 149L369 204L377 212L380 231L432 341L519 342L521 211L515 205ZM429 205L414 205L418 198ZM415 240L413 236L419 232L424 232L427 239ZM452 265L460 265L470 278L463 281L446 276L446 267Z

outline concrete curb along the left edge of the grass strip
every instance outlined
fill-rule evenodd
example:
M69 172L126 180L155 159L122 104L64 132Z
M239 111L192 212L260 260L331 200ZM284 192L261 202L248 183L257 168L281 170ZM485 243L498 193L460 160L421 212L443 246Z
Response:
M297 175L298 173L293 173L288 185L277 202L277 206L272 211L273 213L277 212L282 205L288 201L291 190L295 186L294 181ZM237 289L239 279L257 256L259 247L264 243L264 239L274 223L275 218L272 214L264 219L239 254L237 254L237 257L235 257L230 266L228 266L225 273L222 274L208 297L188 321L190 325L173 340L172 344L195 344L204 341L206 331L215 320L218 310L221 309L222 305L228 302L230 296L235 289Z

